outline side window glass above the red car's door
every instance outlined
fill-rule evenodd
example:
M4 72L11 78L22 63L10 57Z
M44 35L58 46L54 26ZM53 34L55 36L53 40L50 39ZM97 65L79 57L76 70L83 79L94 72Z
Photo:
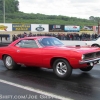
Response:
M21 48L38 48L38 45L34 40L21 40L16 46Z

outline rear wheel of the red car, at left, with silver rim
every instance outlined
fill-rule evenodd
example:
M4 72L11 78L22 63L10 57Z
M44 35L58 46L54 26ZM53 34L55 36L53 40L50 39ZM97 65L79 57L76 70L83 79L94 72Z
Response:
M14 60L12 59L12 57L9 55L5 55L3 57L3 62L4 62L5 67L9 70L15 70L15 69L20 68L20 65L16 64Z

